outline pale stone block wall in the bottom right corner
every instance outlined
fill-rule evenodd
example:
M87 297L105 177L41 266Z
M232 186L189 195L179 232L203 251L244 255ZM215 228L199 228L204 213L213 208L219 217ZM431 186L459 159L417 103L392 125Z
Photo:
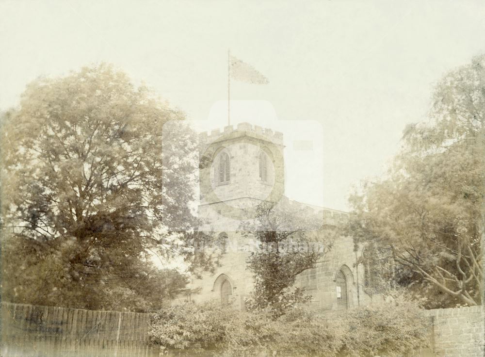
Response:
M428 310L433 319L433 345L437 357L484 356L484 308Z

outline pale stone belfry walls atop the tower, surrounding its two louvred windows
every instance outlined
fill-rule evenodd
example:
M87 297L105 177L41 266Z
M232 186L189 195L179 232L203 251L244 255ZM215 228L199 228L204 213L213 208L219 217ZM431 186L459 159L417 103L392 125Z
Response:
M259 155L266 153L267 179L259 178ZM230 158L230 180L219 182L219 156L227 154ZM241 123L234 130L226 127L224 132L214 130L210 136L199 136L200 165L200 204L227 201L232 205L234 199L253 197L263 200L276 200L284 195L284 168L282 134L269 129L253 128ZM273 195L272 192L277 190ZM258 204L258 203L256 203Z

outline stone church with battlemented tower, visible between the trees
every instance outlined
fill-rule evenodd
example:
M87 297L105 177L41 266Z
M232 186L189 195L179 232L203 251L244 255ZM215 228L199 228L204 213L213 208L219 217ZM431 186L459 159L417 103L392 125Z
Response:
M302 211L321 217L323 226L336 226L348 214L289 200L285 196L283 134L240 123L236 128L199 134L198 216L204 222L200 230L210 231L225 241L220 266L214 274L192 278L196 293L181 296L181 301L233 302L244 309L244 301L253 289L253 275L246 259L250 242L239 231L241 222L251 219L251 211L261 202L286 200ZM318 230L313 234L321 234ZM323 233L322 233L323 234ZM352 237L338 237L321 261L297 276L296 286L311 295L307 308L324 313L347 310L382 301L369 295L369 268L359 259L362 247L354 247Z

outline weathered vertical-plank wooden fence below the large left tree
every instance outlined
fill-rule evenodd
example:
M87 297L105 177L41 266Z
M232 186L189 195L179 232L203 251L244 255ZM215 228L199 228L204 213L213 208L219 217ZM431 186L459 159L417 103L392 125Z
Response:
M2 302L2 357L155 357L148 314Z

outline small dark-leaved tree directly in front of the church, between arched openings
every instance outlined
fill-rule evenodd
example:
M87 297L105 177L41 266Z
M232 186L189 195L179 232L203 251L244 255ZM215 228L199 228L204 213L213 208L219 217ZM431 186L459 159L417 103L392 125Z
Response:
M241 225L243 236L255 238L259 245L247 259L255 279L250 309L267 308L277 317L309 301L304 289L294 284L298 274L314 268L330 248L332 230L322 224L311 209L281 201L261 203L254 221Z

